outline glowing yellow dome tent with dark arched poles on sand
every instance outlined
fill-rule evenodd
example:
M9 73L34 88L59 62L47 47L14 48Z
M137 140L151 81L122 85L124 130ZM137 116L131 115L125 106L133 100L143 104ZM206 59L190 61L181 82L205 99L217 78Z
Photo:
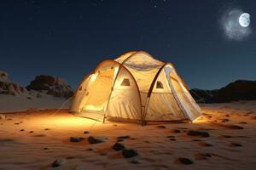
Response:
M104 60L85 76L73 95L71 112L104 122L189 120L201 109L171 63L139 51Z

